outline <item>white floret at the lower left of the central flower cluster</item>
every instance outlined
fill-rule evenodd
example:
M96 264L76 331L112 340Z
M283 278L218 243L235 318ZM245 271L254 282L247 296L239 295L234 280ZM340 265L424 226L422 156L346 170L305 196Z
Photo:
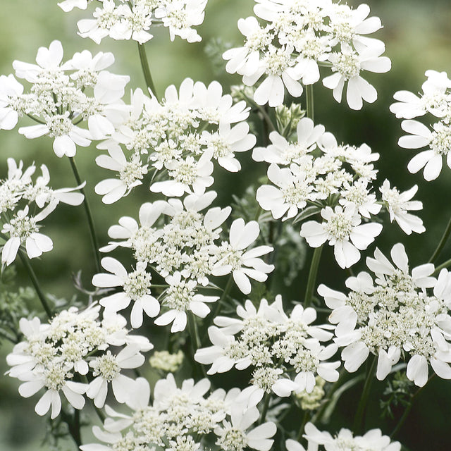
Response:
M106 310L123 310L133 301L133 307L130 314L130 323L132 328L142 326L142 312L153 318L159 314L160 304L151 295L151 275L147 273L147 263L139 261L136 265L136 271L127 273L123 265L111 257L101 259L103 266L108 273L100 273L92 278L92 285L99 288L123 287L123 292L118 292L110 296L103 297L100 304Z

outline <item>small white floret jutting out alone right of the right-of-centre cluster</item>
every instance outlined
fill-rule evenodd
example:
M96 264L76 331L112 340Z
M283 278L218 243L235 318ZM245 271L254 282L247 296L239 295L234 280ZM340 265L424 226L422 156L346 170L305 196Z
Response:
M411 200L417 191L418 186L414 185L410 190L399 192L396 187L390 188L388 180L381 186L382 200L387 206L390 221L396 221L407 235L412 232L423 233L426 230L418 216L407 213L408 210L423 209L419 200Z

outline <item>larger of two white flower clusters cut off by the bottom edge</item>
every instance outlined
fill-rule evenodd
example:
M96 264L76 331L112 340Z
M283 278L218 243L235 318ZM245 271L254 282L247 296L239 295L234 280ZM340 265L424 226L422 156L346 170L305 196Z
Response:
M109 418L104 430L94 426L96 438L106 445L92 443L80 446L82 451L197 451L212 449L207 435L214 435L220 450L269 451L276 433L272 421L253 427L259 419L256 397L248 389L210 390L210 381L192 379L175 384L170 373L156 382L153 402L149 405L150 387L137 378L135 391L127 401L132 414L119 414L107 409ZM207 445L208 443L208 445ZM216 448L213 448L216 449Z

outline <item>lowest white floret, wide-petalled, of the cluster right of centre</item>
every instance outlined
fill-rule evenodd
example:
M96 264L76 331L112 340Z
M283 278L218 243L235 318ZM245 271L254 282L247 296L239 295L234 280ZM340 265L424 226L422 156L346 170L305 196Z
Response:
M335 206L335 211L326 206L321 210L325 221L307 221L302 224L301 236L311 247L320 247L326 241L333 246L335 259L341 268L350 268L360 259L359 250L366 249L382 231L378 223L361 224L362 220L355 207L350 204L342 209Z

